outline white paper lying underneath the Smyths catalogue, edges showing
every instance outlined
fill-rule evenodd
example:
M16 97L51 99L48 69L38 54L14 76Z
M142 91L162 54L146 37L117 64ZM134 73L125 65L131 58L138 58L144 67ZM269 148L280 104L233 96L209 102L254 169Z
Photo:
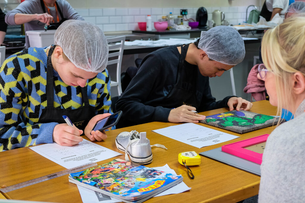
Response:
M153 169L155 170L161 170L167 173L171 173L174 175L177 175L176 172L171 169L167 164L164 166L160 166L160 167L153 167ZM101 194L99 192L95 192L93 190L87 189L85 187L81 187L79 185L77 185L78 187L78 191L81 194L81 199L83 201L83 203L114 203L114 202L120 202L120 200L117 200L115 198L111 198L105 194ZM181 192L185 192L190 190L191 188L188 187L184 182L181 182L169 189L167 189L166 191L163 191L159 194L157 194L154 197L159 197L159 196L163 196L163 195L167 195L167 194L178 194Z

